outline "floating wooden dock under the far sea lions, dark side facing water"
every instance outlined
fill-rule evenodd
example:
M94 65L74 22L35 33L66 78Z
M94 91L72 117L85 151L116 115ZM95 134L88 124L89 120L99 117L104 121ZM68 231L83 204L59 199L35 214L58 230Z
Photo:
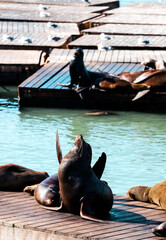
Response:
M70 82L69 62L74 50L55 49L47 59L48 63L30 76L18 87L20 107L64 107L89 108L110 110L163 110L166 103L165 93L149 93L138 101L132 101L134 94L110 93L91 90L87 93L86 101L79 95L59 84ZM140 50L85 50L84 63L88 70L104 71L110 74L119 74L126 71L141 71L141 61L147 57L166 59L166 51Z

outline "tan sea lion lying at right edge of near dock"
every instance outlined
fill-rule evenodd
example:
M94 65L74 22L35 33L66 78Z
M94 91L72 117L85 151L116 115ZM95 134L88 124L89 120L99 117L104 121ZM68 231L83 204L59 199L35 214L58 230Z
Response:
M126 194L131 200L150 202L166 210L166 181L157 183L153 187L132 187Z

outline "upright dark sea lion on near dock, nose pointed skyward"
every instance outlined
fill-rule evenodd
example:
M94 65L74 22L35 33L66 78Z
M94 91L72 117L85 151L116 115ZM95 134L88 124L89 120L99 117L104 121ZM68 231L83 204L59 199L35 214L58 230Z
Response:
M97 176L92 170L91 158L91 146L84 141L82 135L77 136L73 149L62 159L58 169L61 204L59 207L45 207L46 209L65 209L95 221L101 221L100 217L109 213L113 205L113 194L110 187L99 179L101 174ZM106 159L104 153L102 158Z

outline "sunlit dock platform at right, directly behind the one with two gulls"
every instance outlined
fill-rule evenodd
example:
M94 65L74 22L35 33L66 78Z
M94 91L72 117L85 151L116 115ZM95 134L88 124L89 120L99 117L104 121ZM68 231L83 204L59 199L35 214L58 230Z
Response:
M95 25L95 24L94 24ZM98 25L98 24L97 24ZM164 25L139 25L139 24L104 24L81 31L82 34L123 34L123 35L153 35L166 36Z

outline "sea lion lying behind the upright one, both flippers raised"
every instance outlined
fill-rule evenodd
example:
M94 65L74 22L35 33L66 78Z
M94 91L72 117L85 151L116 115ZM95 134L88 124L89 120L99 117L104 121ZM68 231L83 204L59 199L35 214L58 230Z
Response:
M62 151L60 148L58 133L56 135L57 157L59 163L61 163ZM100 179L102 176L105 168L105 163L106 157L104 154L102 154L92 168L98 179ZM24 191L28 192L31 195L34 194L36 201L43 206L58 207L60 205L59 180L57 173L46 178L38 185L35 184L33 186L27 186Z

